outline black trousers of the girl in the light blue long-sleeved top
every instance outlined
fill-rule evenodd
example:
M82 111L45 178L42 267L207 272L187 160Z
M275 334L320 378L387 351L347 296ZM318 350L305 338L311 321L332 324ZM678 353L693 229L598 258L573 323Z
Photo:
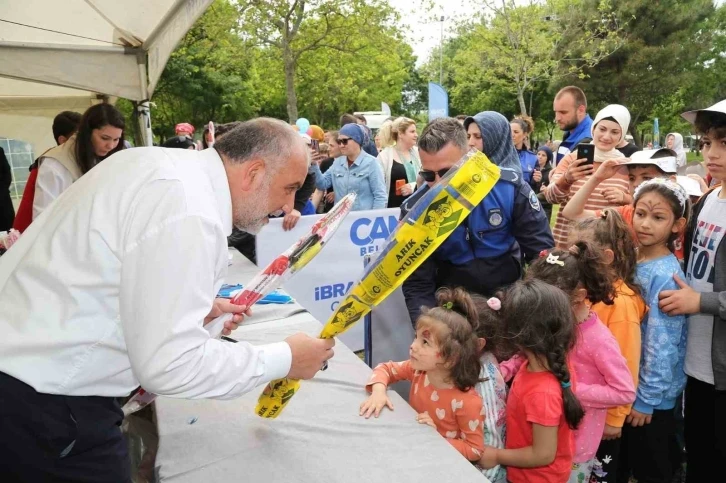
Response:
M625 423L620 445L618 483L631 474L638 483L671 483L680 465L675 411L653 411L650 424L637 428Z

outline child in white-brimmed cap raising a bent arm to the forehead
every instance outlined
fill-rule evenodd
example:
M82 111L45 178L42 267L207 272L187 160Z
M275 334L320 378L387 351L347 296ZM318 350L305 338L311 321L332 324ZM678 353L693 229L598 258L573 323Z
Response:
M672 178L676 176L676 153L667 148L650 149L638 151L628 158L610 159L600 165L589 180L578 190L567 205L562 209L562 216L571 221L579 221L585 218L599 216L599 211L586 210L585 204L590 194L593 193L603 181L615 176L621 167L628 168L628 181L630 183L630 195L642 183L654 178ZM613 204L619 204L615 208L628 226L633 228L633 207L630 195L618 190L611 190L605 196ZM627 203L627 204L626 204ZM633 232L635 236L635 232ZM675 242L674 253L678 260L683 260L683 234Z

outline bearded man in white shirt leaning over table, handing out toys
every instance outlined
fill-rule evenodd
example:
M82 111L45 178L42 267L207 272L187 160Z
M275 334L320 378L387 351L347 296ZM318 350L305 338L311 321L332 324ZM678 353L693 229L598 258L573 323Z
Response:
M129 481L116 398L139 384L224 399L315 375L332 340L252 347L203 328L247 310L214 298L232 225L288 211L308 164L290 126L256 119L201 152L121 151L41 214L0 258L4 481Z

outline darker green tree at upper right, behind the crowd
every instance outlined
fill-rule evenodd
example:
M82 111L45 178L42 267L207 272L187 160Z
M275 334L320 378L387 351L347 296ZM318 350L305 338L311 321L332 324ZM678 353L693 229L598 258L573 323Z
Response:
M584 76L563 79L559 85L580 85L591 110L611 103L626 106L633 137L642 145L642 135L646 126L652 126L653 117L662 118L664 134L684 128L677 112L692 105L698 90L694 86L701 83L706 64L712 59L715 65L724 50L710 51L708 47L718 30L708 23L716 14L711 0L625 0L614 5L616 17L628 19L623 47L584 69ZM720 75L724 71L717 68L712 72ZM711 79L707 84L715 89L721 81Z

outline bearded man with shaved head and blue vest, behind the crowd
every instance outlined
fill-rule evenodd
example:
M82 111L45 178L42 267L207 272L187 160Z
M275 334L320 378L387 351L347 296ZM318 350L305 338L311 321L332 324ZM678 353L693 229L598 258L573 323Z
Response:
M567 86L560 89L553 103L555 122L565 131L557 149L557 160L570 154L575 146L581 142L589 142L592 138L592 118L587 113L587 97L582 89L576 86Z

